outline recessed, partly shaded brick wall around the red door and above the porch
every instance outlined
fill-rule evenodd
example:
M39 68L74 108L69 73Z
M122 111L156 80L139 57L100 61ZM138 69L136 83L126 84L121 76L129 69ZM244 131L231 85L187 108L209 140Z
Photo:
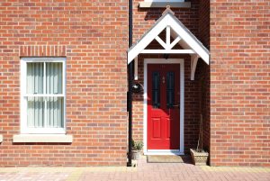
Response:
M161 17L164 8L138 8L141 0L135 0L133 4L133 42L138 41L141 36ZM198 37L199 1L192 1L191 8L172 8L175 16ZM139 83L143 85L143 59L163 59L163 56L139 55ZM190 80L190 56L170 56L172 59L184 59L184 148L188 152L195 148L199 129L199 81ZM134 95L133 99L133 138L143 140L143 94Z

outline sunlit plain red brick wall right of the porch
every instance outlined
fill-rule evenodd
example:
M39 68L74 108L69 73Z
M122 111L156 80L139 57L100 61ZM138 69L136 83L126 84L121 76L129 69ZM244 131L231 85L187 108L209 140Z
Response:
M270 166L270 3L211 1L211 165Z

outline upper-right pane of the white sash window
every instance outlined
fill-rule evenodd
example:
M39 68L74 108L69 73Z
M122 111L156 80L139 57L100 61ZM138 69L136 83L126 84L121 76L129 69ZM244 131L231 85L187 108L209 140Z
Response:
M46 94L62 94L62 63L46 63Z

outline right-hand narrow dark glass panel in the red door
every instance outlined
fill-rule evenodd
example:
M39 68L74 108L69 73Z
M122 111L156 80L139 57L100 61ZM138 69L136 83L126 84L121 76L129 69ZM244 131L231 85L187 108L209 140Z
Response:
M175 104L175 72L166 73L166 107L172 108Z

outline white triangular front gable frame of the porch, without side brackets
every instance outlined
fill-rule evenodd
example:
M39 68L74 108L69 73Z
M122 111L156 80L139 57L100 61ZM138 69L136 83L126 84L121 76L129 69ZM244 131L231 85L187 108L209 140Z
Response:
M166 46L163 41L160 41L158 38L158 34L162 32L166 28ZM185 44L190 47L192 50L171 50L173 44L170 43L170 35L171 31L175 32L175 36L181 38ZM158 38L157 38L158 37ZM157 41L163 46L166 47L165 50L145 50L148 44L157 39ZM175 42L174 42L175 43ZM139 53L153 53L153 54L198 54L205 63L209 65L209 50L202 45L200 41L198 41L189 30L181 23L178 19L175 18L173 14L164 14L161 18L157 20L157 23L149 29L147 34L145 34L137 44L130 48L128 52L128 64L135 59Z

